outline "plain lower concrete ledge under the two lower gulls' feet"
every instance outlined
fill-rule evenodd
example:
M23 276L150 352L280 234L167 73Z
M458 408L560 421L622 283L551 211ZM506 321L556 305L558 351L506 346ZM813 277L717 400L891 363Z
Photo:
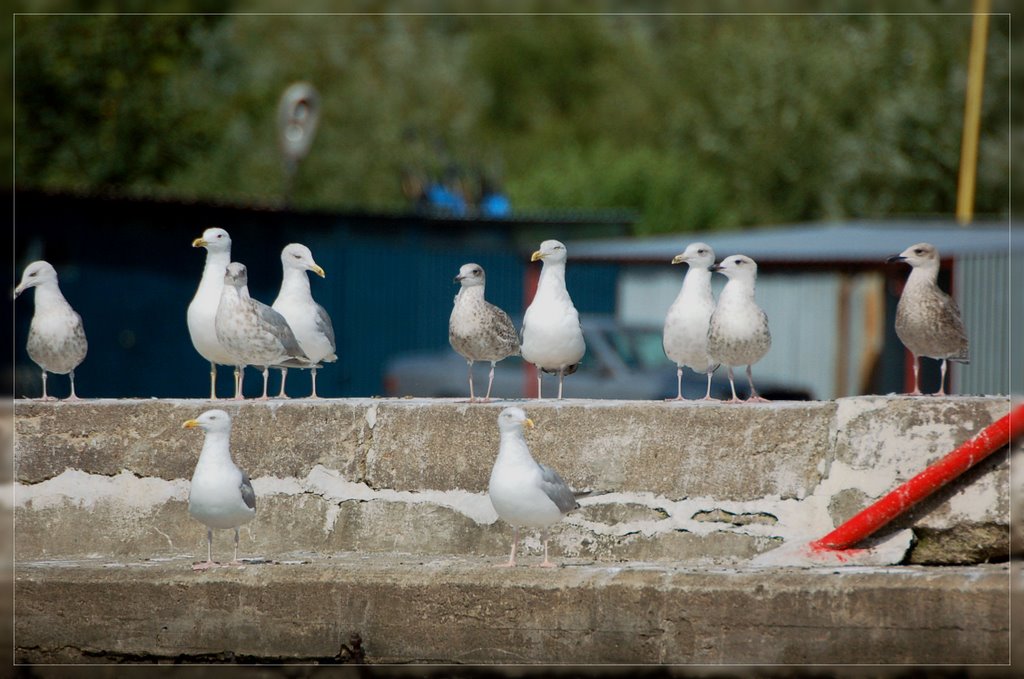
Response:
M344 555L194 574L186 560L19 564L23 663L1006 663L1009 566L495 568Z

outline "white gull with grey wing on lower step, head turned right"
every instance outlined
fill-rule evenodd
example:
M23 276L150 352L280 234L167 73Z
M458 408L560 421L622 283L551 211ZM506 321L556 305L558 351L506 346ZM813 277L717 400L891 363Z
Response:
M521 408L506 408L498 416L501 444L490 470L487 495L498 516L512 524L512 553L508 563L501 565L515 565L519 526L527 526L542 529L541 565L550 568L555 564L548 560L548 526L580 505L558 472L534 460L522 435L523 425L532 428L534 421Z

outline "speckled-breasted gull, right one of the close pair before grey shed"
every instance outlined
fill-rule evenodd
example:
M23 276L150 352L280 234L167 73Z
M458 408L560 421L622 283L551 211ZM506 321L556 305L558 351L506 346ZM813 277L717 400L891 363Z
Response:
M730 404L739 402L736 385L732 380L733 366L746 365L746 381L751 396L746 400L766 401L754 388L751 366L761 360L771 347L768 316L754 301L754 284L758 279L758 265L744 255L732 255L721 264L709 267L729 279L718 296L718 306L711 314L708 329L708 353L712 360L723 364L729 371L732 388Z

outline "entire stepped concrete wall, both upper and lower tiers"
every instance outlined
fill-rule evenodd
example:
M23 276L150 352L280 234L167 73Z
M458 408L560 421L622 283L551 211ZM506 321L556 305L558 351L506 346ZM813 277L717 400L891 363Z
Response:
M555 569L494 568L502 405L218 404L256 519L243 568L194 572L196 400L17 401L19 663L902 663L1010 656L1009 453L896 521L894 560L758 567L1005 415L1006 398L522 404L534 455L600 494ZM775 552L772 548L786 545ZM529 536L520 558L539 562ZM230 532L214 556L230 557ZM1017 576L1019 578L1019 576ZM9 619L8 619L9 620Z

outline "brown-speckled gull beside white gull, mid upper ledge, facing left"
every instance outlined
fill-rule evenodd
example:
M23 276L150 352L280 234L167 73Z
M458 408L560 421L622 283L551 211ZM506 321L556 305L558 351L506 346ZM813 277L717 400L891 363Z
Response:
M463 264L455 282L461 287L449 317L449 342L469 364L469 402L476 400L473 395L473 362L490 362L487 395L483 397L483 402L486 402L490 400L495 364L519 353L519 335L509 314L483 299L483 267Z

